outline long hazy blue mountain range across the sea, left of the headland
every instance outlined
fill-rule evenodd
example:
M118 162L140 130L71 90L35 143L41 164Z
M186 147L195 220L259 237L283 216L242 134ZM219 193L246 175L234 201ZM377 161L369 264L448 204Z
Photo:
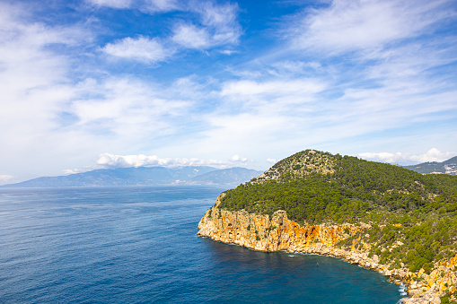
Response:
M261 173L261 171L239 167L216 169L207 166L95 169L66 176L33 178L21 183L4 185L2 187L230 185L249 181Z

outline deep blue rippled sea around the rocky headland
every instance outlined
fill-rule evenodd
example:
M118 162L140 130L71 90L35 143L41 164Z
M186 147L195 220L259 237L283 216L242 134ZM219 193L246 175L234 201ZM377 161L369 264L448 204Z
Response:
M227 187L0 190L1 303L396 303L336 258L197 236Z

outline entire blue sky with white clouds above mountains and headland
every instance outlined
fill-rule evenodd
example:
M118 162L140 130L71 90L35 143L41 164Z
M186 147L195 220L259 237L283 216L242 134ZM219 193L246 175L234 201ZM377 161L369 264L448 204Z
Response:
M0 185L457 155L455 0L0 0Z

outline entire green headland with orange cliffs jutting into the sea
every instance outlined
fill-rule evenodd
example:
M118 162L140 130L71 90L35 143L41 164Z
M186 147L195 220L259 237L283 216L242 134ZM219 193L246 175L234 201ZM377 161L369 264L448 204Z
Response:
M219 195L198 235L259 251L342 257L404 284L404 303L457 298L451 175L306 150Z

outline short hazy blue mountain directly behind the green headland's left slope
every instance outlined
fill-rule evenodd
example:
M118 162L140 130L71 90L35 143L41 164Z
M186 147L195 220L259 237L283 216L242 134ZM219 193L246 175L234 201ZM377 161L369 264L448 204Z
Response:
M246 168L220 169L207 172L198 177L190 179L188 185L224 185L224 184L242 184L252 178L257 178L262 171Z

